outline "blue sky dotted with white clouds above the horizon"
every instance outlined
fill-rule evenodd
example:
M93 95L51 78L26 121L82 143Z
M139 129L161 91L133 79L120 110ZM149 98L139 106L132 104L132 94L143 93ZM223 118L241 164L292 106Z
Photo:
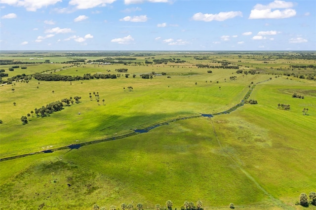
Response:
M1 50L316 50L315 0L0 0Z

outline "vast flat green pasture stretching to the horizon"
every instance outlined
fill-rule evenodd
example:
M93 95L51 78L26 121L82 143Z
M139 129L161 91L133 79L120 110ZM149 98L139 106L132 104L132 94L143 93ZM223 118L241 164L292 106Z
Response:
M72 53L42 52L52 64L14 71L14 64L0 64L8 73L0 86L0 209L120 209L133 202L154 210L171 200L177 209L202 201L205 210L230 203L294 210L304 209L295 205L301 193L316 191L315 52ZM31 57L1 53L1 60ZM70 58L85 61L63 63ZM44 74L117 78L35 78ZM258 104L243 104L248 93ZM76 96L79 103L60 111L30 114Z

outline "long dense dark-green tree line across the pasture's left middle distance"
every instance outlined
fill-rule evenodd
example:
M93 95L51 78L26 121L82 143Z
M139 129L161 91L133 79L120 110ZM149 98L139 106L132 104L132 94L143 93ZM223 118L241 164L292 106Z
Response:
M76 80L89 80L89 79L115 79L116 74L104 74L95 73L91 75L90 73L83 74L83 76L70 76L70 75L60 75L60 74L45 74L45 73L35 73L34 78L37 80L44 81L76 81Z

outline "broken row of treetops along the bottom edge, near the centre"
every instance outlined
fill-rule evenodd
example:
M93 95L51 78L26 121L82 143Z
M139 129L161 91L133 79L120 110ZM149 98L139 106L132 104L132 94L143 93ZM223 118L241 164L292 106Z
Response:
M159 204L156 204L155 210L172 210L172 206L173 206L172 201L168 200L165 203L165 207L160 206ZM203 206L203 203L201 201L197 201L196 205L193 202L185 201L183 203L183 206L181 206L181 210L203 210L202 206ZM234 206L234 204L233 204L233 206ZM106 210L105 207L100 208L98 204L94 204L92 208L93 208L93 210ZM135 210L135 209L136 210L144 210L144 206L142 203L138 203L136 205L136 208L135 208L133 206L133 202L131 204L122 203L120 205L120 208L121 208L121 210ZM117 207L111 206L110 210L117 210ZM176 208L175 208L175 210L176 210Z

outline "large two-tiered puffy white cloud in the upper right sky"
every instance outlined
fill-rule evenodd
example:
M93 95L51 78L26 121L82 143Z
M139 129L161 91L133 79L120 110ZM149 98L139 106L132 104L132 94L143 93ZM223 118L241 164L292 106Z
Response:
M280 19L293 17L296 15L295 9L291 9L293 6L294 4L292 2L282 0L275 0L268 5L258 3L250 11L249 19Z

